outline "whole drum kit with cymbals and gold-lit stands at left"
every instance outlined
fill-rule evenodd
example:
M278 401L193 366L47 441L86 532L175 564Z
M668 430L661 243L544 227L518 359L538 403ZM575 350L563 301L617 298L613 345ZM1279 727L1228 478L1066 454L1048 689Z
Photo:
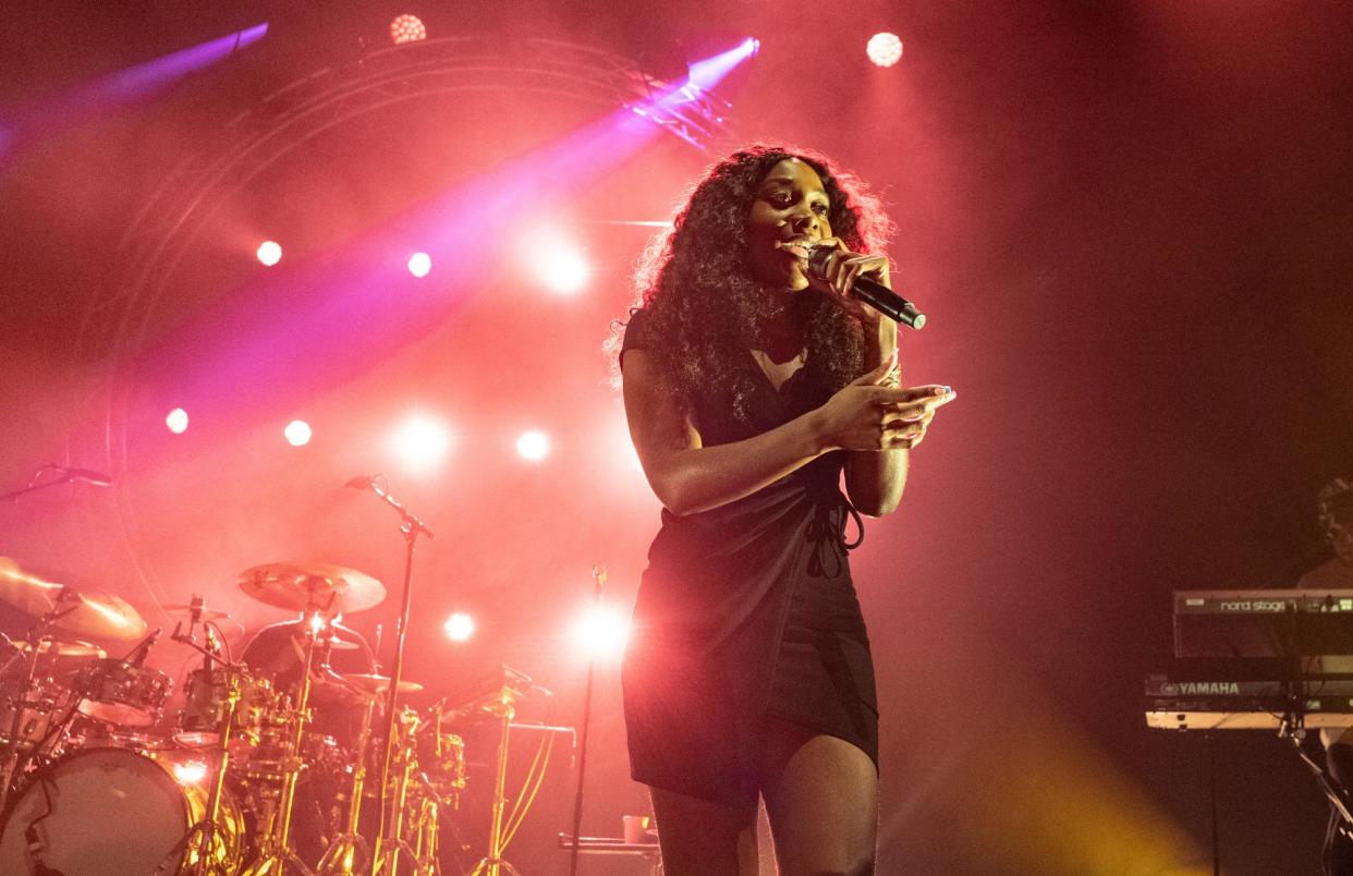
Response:
M146 666L158 630L147 636L141 615L111 593L0 558L0 601L35 619L0 650L0 872L441 872L445 814L465 789L464 743L449 718L478 707L400 704L391 714L422 685L392 689L387 676L330 667L330 654L350 647L336 617L384 600L375 578L271 563L244 571L238 586L300 612L299 680L233 659L218 626L227 615L193 597L165 607L177 619L173 647L200 658L168 714L173 680ZM135 644L119 658L91 640ZM350 738L322 732L317 701L345 704ZM495 806L501 797L499 788Z

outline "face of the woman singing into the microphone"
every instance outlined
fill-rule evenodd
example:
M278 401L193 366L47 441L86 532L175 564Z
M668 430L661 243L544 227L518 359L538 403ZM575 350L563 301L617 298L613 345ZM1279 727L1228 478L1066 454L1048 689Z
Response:
M769 286L806 288L808 250L796 244L832 236L829 209L821 177L805 161L786 158L773 167L756 188L747 219L752 275Z

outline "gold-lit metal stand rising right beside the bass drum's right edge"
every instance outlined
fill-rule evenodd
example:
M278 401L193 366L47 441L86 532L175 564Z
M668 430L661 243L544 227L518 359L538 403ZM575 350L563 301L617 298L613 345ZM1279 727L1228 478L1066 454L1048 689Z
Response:
M198 651L203 657L203 669L208 673L214 672L216 666L226 672L226 711L221 718L221 723L216 730L219 741L216 742L216 766L215 776L211 780L211 791L207 792L207 808L198 823L188 829L188 833L183 835L179 842L173 845L169 854L160 861L160 867L154 869L154 876L162 873L165 867L175 862L175 858L180 852L187 852L183 857L183 862L191 862L192 869L180 871L181 873L191 873L192 876L212 876L219 873L221 876L229 876L234 871L235 864L227 861L226 849L216 842L216 826L221 820L221 797L226 789L226 769L230 766L230 730L235 723L235 707L239 704L239 673L244 672L242 663L234 663L221 658L221 643L211 632L211 627L203 623L203 630L206 631L207 644L198 644L198 638L192 634L198 623L202 621L202 609L206 603L200 596L193 596L191 603L191 613L188 616L188 631L180 630L176 624L173 635L169 638L180 644L187 644L192 650ZM219 849L219 858L218 858Z

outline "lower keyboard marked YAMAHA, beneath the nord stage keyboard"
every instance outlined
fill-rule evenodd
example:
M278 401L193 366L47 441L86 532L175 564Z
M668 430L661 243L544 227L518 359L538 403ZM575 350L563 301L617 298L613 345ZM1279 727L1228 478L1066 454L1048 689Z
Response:
M1277 730L1353 727L1353 680L1146 680L1146 724L1158 730Z

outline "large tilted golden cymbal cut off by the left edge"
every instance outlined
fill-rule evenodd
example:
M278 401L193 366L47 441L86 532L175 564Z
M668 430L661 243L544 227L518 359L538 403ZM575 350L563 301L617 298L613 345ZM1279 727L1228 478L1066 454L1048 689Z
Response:
M96 639L139 639L146 621L120 596L49 581L0 558L0 600L35 616L55 615L51 626Z

